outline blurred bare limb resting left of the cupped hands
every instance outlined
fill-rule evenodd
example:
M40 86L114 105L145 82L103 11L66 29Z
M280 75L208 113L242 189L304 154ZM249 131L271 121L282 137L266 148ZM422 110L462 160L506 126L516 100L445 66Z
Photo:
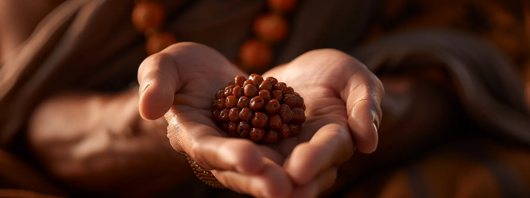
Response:
M167 122L139 116L137 91L63 93L42 102L28 125L34 156L77 191L145 197L196 180L167 141Z

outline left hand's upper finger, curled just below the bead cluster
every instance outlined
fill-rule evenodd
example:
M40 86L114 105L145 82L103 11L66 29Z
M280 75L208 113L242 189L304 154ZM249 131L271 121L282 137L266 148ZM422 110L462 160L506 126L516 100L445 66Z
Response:
M168 114L173 112L172 109ZM166 119L167 137L173 148L190 155L198 165L248 174L263 170L263 153L256 144L248 139L221 137L215 124L204 115L183 111L167 115Z

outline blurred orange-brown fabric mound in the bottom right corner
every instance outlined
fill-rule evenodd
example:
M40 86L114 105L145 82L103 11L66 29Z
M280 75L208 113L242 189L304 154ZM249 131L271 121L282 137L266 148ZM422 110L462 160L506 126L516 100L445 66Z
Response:
M494 144L448 148L396 171L377 197L528 197L529 157Z

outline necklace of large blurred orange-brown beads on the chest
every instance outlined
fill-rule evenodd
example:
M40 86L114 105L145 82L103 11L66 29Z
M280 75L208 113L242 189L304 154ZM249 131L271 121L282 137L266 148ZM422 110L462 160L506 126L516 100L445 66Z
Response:
M178 42L175 35L162 31L166 19L164 5L157 1L135 1L131 20L136 30L144 32L148 55ZM266 69L274 59L272 45L281 43L288 34L285 14L294 10L297 0L267 0L268 10L253 22L254 38L245 41L239 50L239 60L233 61L247 70Z

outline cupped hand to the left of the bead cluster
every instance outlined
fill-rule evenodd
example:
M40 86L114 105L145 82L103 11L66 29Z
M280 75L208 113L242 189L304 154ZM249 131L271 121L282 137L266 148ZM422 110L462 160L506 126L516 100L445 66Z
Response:
M292 184L284 169L250 140L227 137L213 120L211 100L237 75L248 76L208 46L173 44L149 56L138 69L140 115L164 116L173 148L213 170L231 190L258 197L287 196Z

